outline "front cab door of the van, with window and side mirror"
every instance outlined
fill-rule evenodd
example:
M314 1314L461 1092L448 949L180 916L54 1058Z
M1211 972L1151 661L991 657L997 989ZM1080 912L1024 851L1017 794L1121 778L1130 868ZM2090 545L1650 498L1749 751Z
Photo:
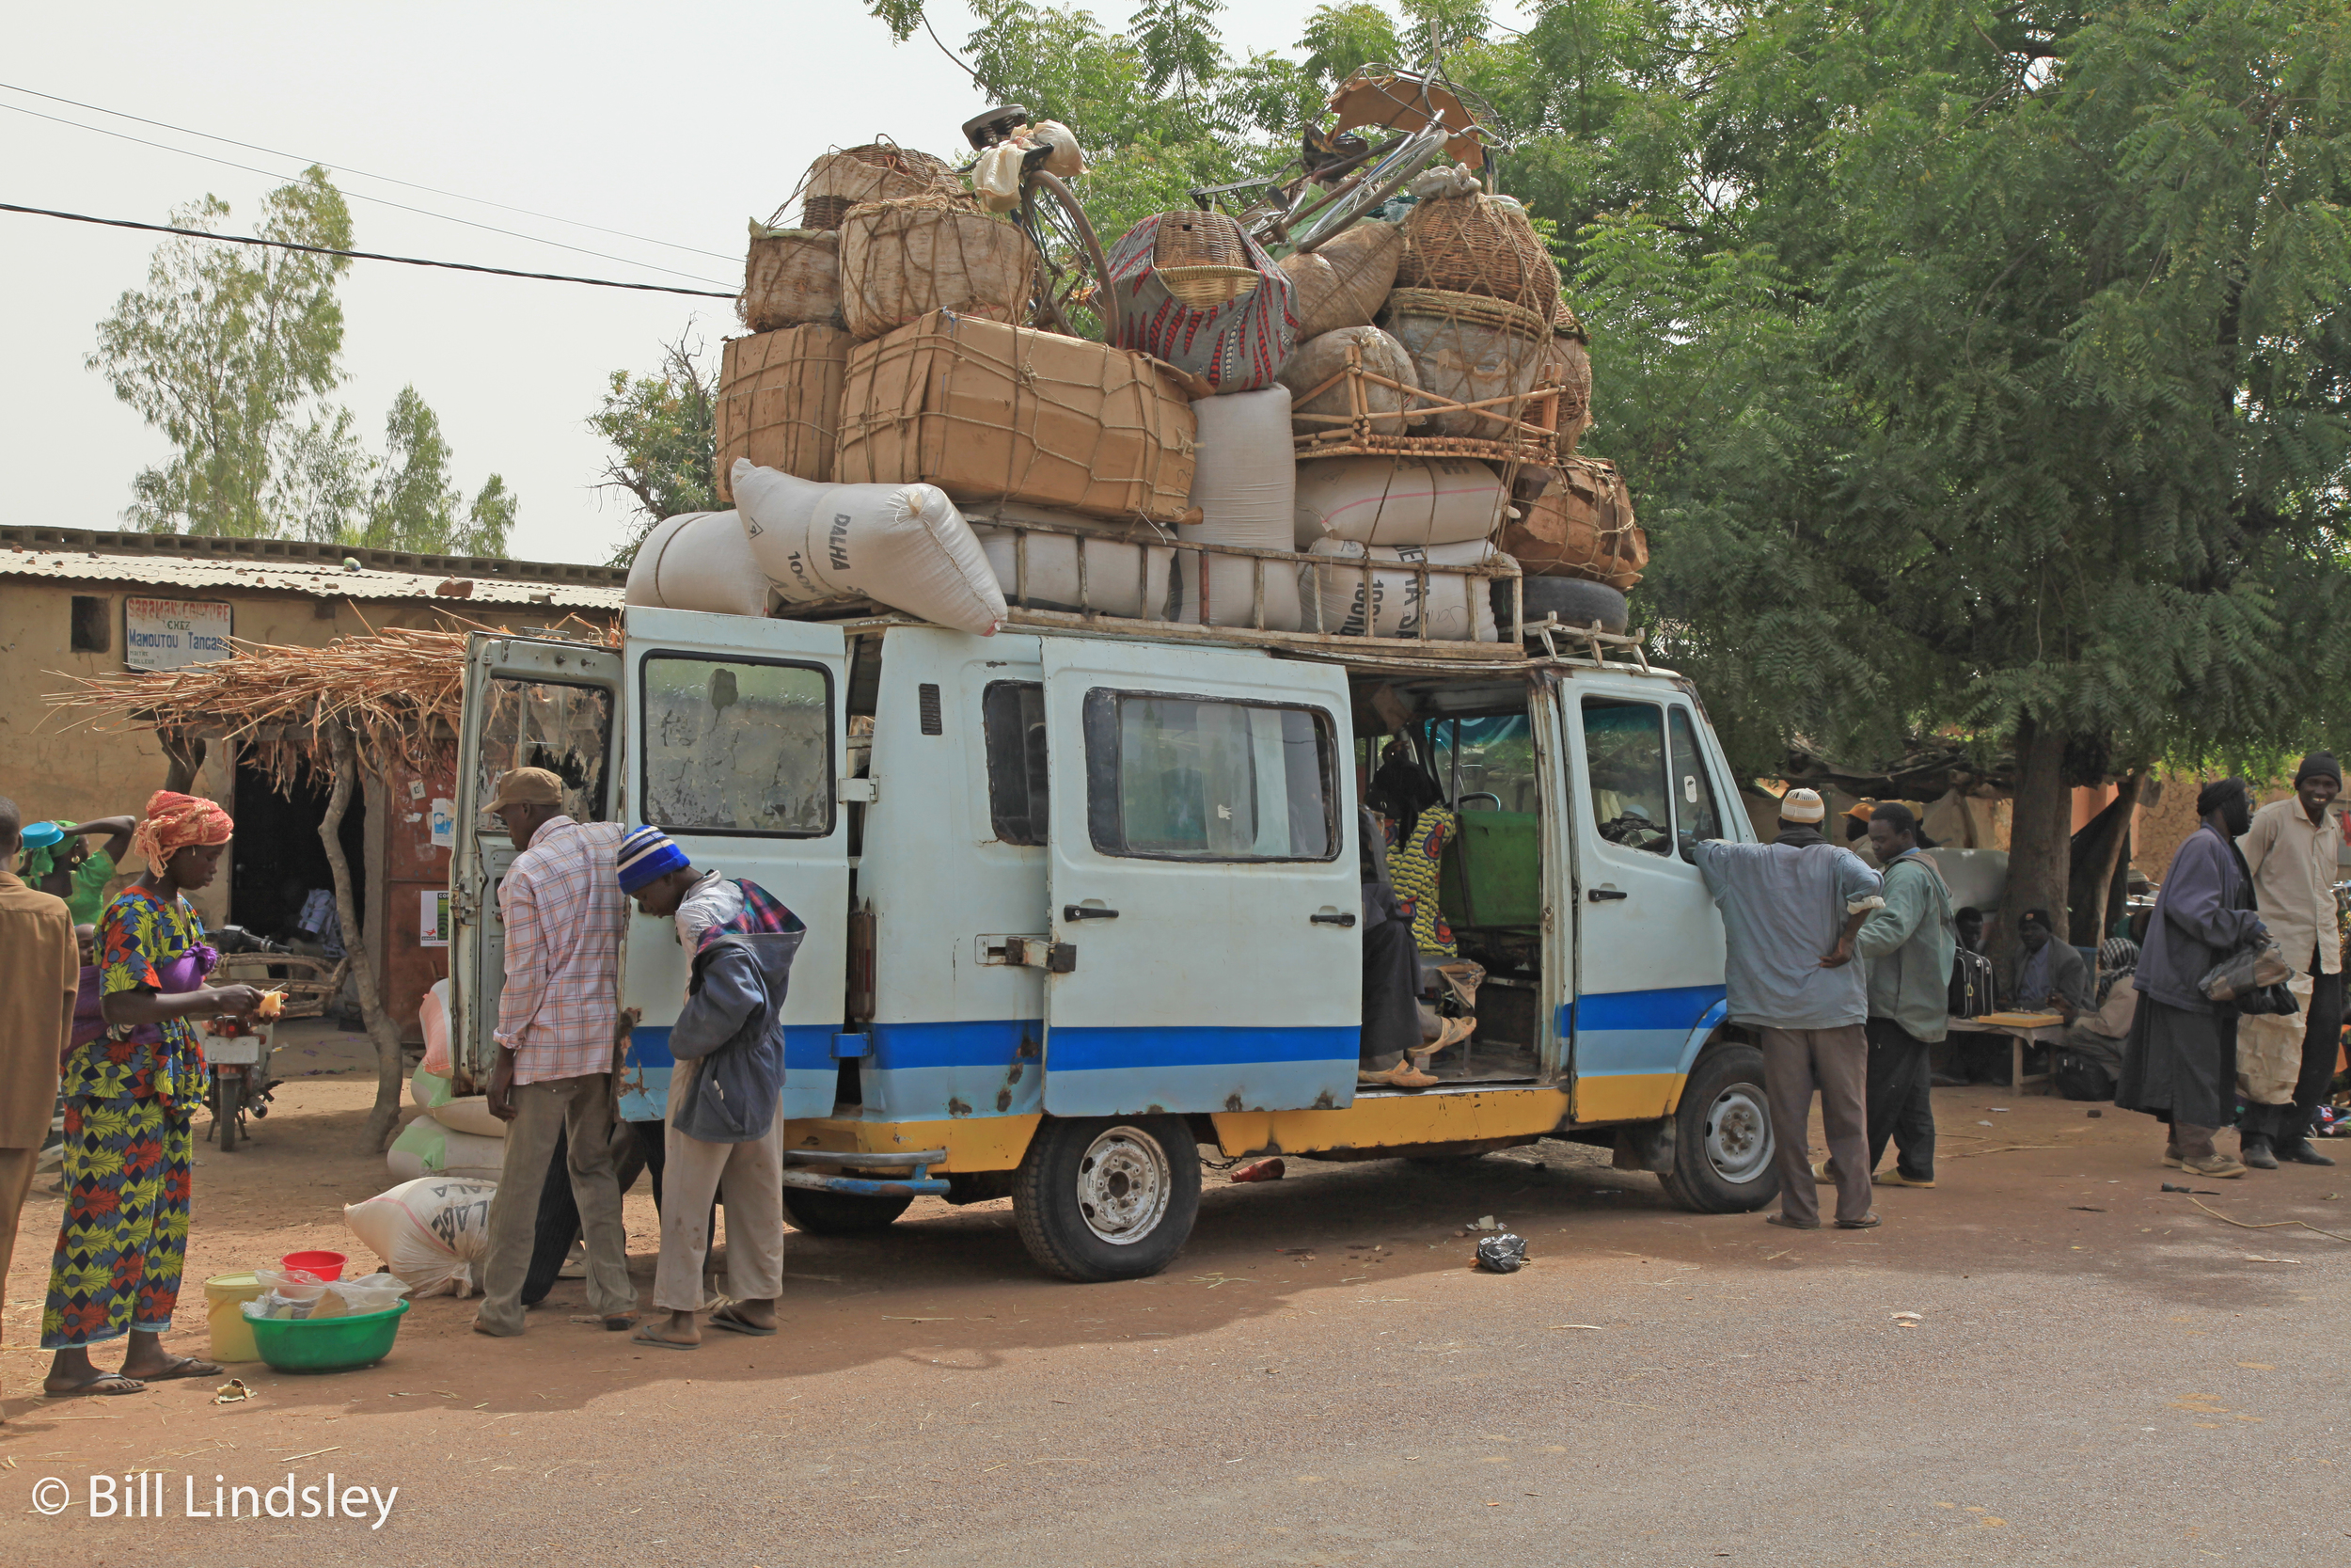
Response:
M1747 837L1690 696L1639 675L1561 682L1575 748L1575 1119L1665 1114L1723 1006L1723 922L1683 835ZM1735 818L1735 820L1730 820Z

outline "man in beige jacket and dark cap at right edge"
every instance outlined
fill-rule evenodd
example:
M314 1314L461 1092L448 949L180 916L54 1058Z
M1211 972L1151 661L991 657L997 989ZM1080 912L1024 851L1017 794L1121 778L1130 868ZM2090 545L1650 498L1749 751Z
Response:
M2276 1171L2280 1159L2304 1166L2335 1161L2311 1145L2311 1112L2335 1081L2335 1051L2344 1023L2344 943L2335 924L2335 856L2342 835L2327 804L2342 795L2344 773L2327 752L2311 752L2295 771L2295 792L2252 813L2238 839L2252 872L2262 924L2278 938L2285 961L2311 978L2302 1023L2302 1077L2288 1105L2248 1105L2238 1114L2241 1159Z

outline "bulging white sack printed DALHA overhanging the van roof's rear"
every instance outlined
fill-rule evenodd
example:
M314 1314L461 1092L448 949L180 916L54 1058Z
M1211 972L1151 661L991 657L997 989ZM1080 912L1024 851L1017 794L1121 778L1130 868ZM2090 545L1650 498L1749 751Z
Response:
M863 595L980 637L1004 625L997 574L936 484L811 484L736 458L734 491L759 571L795 604Z

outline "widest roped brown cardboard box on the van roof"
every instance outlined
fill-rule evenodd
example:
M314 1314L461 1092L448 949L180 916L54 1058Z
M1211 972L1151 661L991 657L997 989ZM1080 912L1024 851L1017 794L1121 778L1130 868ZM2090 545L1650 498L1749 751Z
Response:
M849 350L839 484L936 484L1173 524L1197 421L1183 374L1124 348L945 310Z

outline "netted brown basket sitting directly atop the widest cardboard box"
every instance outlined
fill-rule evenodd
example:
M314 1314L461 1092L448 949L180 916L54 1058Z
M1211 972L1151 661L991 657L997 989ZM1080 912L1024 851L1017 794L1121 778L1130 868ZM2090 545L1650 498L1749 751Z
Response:
M969 197L863 202L842 223L842 320L860 343L933 310L1020 322L1034 275L1027 235Z

